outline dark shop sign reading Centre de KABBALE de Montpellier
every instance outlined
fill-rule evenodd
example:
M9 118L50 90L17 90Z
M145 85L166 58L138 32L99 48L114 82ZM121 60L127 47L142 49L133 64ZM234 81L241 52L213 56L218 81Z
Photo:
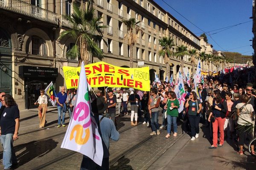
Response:
M19 76L24 77L58 77L58 68L19 66Z

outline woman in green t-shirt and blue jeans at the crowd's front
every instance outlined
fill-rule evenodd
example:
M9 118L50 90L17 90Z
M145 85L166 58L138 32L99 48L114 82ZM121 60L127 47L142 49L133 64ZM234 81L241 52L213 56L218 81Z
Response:
M166 138L170 137L171 127L173 124L173 136L177 136L177 117L178 117L178 108L180 108L179 101L177 100L175 92L171 91L168 94L169 99L167 100L165 110L167 111L167 135Z

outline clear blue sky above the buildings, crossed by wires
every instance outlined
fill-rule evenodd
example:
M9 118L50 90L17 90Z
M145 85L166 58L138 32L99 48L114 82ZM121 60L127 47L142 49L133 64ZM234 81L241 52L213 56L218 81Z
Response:
M243 55L252 55L252 7L253 0L154 0L164 10L180 21L186 28L197 36L203 31L207 32L208 43L217 51L239 52ZM164 3L165 1L169 6ZM248 23L244 23L250 21ZM196 26L192 25L195 24ZM228 26L233 26L224 30ZM218 28L224 28L212 31ZM221 32L220 32L221 31ZM218 33L217 33L218 32ZM217 34L214 34L217 33ZM214 42L215 41L215 42ZM217 42L217 44L216 44ZM236 49L234 49L236 48Z

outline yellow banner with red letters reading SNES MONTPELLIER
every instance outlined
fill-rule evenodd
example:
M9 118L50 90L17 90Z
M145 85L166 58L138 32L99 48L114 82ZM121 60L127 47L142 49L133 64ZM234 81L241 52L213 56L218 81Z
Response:
M122 68L106 62L84 66L91 87L125 87L150 91L149 68ZM67 88L77 88L81 67L63 66Z

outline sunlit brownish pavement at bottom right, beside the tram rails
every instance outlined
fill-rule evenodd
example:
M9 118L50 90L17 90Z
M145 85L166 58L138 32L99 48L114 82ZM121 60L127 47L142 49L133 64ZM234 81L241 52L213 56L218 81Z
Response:
M256 158L251 156L247 151L245 151L243 156L238 155L236 150L234 150L236 147L231 139L224 141L223 147L208 149L211 145L208 141L209 130L202 125L200 127L201 131L198 139L191 141L188 134L183 135L148 170L256 169ZM247 146L245 147L247 148Z

